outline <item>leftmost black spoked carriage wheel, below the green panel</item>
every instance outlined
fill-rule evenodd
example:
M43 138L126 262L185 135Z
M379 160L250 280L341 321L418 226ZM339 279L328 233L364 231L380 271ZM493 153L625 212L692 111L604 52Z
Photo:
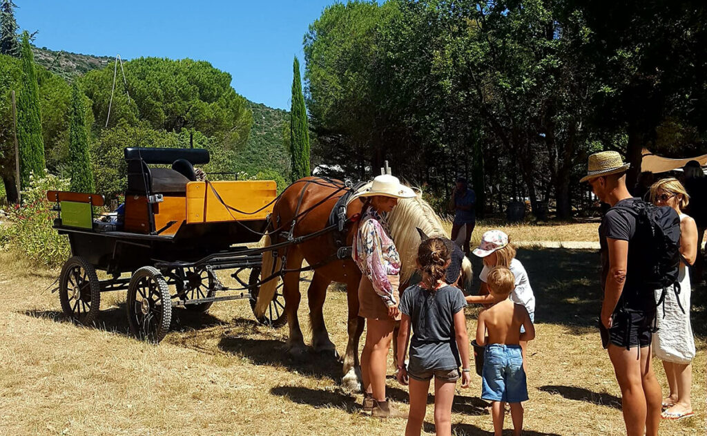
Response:
M72 321L89 325L98 319L100 282L88 260L74 256L64 262L59 275L59 302Z

